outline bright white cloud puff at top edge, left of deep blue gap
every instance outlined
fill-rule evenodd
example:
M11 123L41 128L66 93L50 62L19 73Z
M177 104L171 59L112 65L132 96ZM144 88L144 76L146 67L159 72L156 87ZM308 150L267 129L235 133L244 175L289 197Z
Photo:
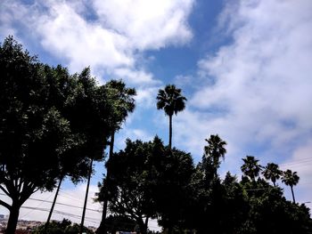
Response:
M144 50L188 42L192 32L186 21L192 5L193 0L94 0L94 11L105 26Z

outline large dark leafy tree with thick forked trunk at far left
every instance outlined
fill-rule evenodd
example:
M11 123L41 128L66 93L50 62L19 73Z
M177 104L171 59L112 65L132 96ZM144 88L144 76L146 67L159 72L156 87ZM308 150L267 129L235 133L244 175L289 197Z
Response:
M37 190L53 190L70 175L86 175L103 157L108 105L85 69L70 76L41 64L8 37L0 46L0 189L12 198L7 233L22 204ZM38 176L40 175L40 176Z

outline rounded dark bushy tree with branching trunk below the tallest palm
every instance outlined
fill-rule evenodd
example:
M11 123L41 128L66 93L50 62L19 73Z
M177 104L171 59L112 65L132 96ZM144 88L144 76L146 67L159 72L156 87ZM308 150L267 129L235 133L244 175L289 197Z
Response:
M135 220L146 233L150 218L160 215L160 223L172 229L181 219L185 185L193 170L189 154L169 150L155 137L153 141L130 141L107 163L111 183L100 188L98 200L108 190L110 210Z

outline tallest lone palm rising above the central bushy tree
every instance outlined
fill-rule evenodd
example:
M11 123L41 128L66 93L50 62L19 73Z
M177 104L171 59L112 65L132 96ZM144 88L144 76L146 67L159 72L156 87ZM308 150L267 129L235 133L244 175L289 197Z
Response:
M156 99L157 109L164 109L169 117L169 149L171 149L172 116L185 109L186 98L181 94L181 89L176 88L176 85L167 85L164 90L159 90Z

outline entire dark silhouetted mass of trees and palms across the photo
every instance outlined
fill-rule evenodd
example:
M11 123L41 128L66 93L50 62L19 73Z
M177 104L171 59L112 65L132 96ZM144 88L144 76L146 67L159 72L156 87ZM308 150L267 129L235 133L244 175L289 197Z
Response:
M206 140L197 165L189 153L172 147L172 117L186 101L175 85L156 98L157 109L169 119L168 146L156 136L127 140L126 148L114 153L114 135L135 109L135 90L122 81L98 85L89 69L70 75L30 56L9 36L0 45L0 84L0 190L12 199L11 204L0 199L0 205L10 211L8 234L37 190L57 188L55 202L65 177L89 184L93 162L103 160L107 146L107 172L96 194L103 202L97 233L118 228L147 233L151 219L167 233L312 233L308 208L295 203L297 173L273 163L263 167L247 156L241 180L231 173L221 179L226 141L217 134ZM291 187L293 202L283 197L279 179ZM112 215L106 217L108 209ZM49 224L52 212L53 206L37 233L84 231L84 218L80 226Z

